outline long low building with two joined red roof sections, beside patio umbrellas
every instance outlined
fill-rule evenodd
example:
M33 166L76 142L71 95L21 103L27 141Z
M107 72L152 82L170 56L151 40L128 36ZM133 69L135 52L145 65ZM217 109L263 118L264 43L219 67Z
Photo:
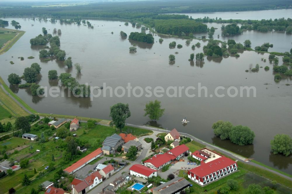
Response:
M145 160L144 166L154 170L159 170L165 165L170 164L172 160L182 157L188 150L189 148L185 144L177 146L165 154L158 154Z

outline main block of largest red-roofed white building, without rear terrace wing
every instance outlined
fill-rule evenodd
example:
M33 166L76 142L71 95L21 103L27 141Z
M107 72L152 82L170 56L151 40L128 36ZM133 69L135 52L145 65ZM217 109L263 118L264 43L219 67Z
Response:
M237 163L230 158L221 156L215 160L210 158L210 160L209 162L208 160L206 162L201 161L199 167L188 170L188 177L195 183L204 186L237 171Z

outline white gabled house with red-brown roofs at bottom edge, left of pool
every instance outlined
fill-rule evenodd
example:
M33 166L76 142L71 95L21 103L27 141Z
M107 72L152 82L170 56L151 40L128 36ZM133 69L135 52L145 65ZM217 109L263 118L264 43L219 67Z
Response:
M84 180L74 178L71 183L72 194L84 194L102 182L102 175L94 172Z

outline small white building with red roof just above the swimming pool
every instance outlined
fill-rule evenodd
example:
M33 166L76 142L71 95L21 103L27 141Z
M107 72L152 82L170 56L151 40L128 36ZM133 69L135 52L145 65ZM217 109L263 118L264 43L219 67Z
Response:
M142 164L134 164L130 167L129 170L131 175L142 177L144 179L151 178L152 176L157 176L157 170L147 168Z

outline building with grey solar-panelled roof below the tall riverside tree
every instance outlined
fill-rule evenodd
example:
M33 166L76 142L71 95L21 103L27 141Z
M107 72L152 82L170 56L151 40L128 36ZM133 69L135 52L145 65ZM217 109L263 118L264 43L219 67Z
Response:
M117 149L122 147L123 144L124 140L121 138L121 136L113 134L112 136L105 138L101 149L104 154L110 155L116 153Z

